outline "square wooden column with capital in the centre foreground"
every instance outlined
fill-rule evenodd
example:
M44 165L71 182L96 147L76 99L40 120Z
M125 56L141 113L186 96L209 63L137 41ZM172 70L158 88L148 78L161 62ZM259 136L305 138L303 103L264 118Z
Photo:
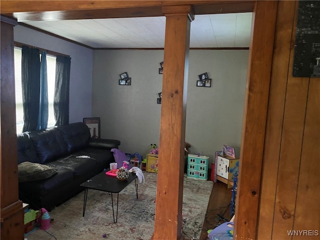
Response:
M160 140L152 239L180 239L191 6L163 6L166 16Z

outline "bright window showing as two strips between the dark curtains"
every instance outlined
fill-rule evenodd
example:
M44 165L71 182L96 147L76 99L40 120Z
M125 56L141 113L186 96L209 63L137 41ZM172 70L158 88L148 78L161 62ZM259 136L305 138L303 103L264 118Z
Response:
M14 80L15 80L15 119L16 132L23 128L23 105L21 87L21 48L14 47ZM48 80L48 126L55 124L53 111L54 81L55 81L55 56L46 55L47 80Z

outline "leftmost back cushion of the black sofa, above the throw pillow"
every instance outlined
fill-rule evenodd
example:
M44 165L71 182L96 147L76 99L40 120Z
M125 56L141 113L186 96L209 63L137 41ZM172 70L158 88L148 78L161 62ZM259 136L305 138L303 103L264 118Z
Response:
M16 140L18 164L23 161L41 163L28 132L18 133Z

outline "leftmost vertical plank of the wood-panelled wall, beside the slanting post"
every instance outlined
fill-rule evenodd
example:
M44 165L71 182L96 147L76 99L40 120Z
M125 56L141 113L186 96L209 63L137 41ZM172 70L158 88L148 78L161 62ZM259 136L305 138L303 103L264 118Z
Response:
M283 124L284 100L290 58L294 1L279 1L265 135L264 162L257 239L270 239L272 232L277 168ZM286 66L286 67L285 67Z

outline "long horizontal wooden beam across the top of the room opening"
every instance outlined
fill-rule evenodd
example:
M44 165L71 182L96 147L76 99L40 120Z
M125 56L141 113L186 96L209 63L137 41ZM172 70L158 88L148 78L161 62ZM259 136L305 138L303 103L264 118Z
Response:
M194 14L251 12L252 0L1 0L0 13L18 21L163 16L162 6L192 5Z

